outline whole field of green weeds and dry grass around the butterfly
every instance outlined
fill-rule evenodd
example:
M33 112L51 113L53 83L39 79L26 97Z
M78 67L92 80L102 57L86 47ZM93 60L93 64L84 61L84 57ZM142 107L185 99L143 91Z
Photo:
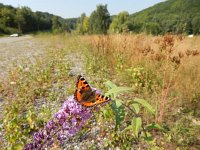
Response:
M200 37L40 34L34 40L46 45L40 57L14 63L8 79L0 81L0 147L20 149L30 142L73 95L83 73L103 93L111 83L127 90L110 95L112 104L94 112L98 133L91 136L88 121L68 141L69 149L85 133L85 149L200 148Z

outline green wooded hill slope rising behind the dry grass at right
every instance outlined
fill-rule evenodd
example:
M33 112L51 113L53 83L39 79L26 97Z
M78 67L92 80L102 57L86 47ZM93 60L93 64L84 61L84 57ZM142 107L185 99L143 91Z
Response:
M133 31L200 34L200 0L167 0L130 15Z

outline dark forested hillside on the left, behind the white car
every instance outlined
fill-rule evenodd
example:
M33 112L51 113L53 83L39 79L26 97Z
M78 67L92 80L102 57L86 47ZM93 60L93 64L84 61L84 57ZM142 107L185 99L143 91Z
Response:
M14 8L0 3L0 34L75 29L76 19L63 19L48 12L33 12L29 7Z

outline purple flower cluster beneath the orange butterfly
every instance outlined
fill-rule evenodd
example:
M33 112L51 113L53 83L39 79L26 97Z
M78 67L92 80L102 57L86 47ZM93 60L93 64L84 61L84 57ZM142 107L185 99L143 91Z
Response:
M91 110L80 105L74 96L68 97L62 108L54 115L43 130L34 134L32 143L24 150L37 150L51 147L57 139L60 144L68 137L74 136L92 116Z

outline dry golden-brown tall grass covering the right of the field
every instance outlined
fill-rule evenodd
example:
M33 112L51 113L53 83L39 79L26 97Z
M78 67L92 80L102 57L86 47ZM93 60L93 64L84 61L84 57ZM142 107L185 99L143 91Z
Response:
M154 72L160 80L157 82L161 83L154 85L147 99L157 107L157 122L162 122L166 113L190 103L193 95L199 92L199 36L121 34L82 36L80 40L89 43L95 56L106 57L111 68L117 66L120 55L124 59L121 72L138 65Z

